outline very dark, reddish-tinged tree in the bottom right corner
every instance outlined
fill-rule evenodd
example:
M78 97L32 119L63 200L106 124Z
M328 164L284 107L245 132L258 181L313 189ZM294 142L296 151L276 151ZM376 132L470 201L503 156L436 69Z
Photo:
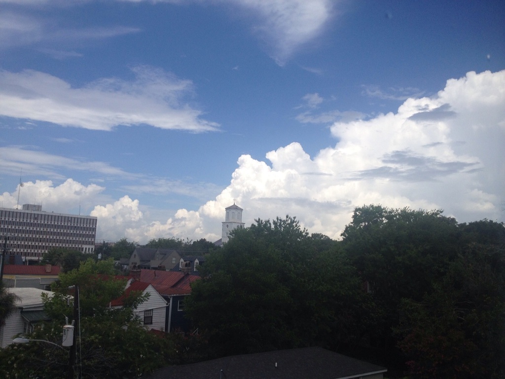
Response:
M478 239L480 240L482 236ZM488 240L489 241L489 240ZM505 376L505 257L474 244L421 302L404 299L395 329L416 378Z

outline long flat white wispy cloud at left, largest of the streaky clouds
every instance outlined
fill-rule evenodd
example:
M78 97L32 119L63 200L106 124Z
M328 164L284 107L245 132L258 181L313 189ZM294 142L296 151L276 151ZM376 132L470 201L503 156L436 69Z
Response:
M190 80L151 67L135 79L103 78L80 88L38 71L0 71L0 115L95 130L147 124L191 132L217 130L185 101Z

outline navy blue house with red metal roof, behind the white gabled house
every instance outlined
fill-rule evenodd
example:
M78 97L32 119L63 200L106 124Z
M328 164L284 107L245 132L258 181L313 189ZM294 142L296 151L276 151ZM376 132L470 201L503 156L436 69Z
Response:
M182 271L131 270L130 277L149 283L168 302L165 330L188 332L190 323L185 317L185 299L191 294L191 283L198 280L197 275Z

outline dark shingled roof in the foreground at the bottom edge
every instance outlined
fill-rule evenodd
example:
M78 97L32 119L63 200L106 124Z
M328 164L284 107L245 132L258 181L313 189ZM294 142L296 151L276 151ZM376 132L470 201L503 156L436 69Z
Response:
M160 368L146 379L382 379L385 367L319 347L234 355Z

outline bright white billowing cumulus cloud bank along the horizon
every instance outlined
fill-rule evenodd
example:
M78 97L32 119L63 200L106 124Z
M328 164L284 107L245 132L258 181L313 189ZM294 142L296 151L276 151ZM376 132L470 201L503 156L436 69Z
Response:
M312 108L321 103L314 94L305 100ZM161 216L128 194L105 196L107 184L86 186L73 179L60 185L26 182L20 204L36 202L68 212L80 201L98 217L98 241L126 236L140 243L170 236L215 241L224 208L234 199L249 224L289 214L310 232L333 239L350 222L354 208L365 204L444 209L460 222L504 221L504 105L505 70L469 72L447 80L432 97L408 98L394 113L334 122L330 133L335 146L314 157L299 141L268 152L265 161L240 156L229 185L197 211L179 209ZM41 157L50 171L54 156L25 159ZM2 165L18 168L16 159L0 155ZM102 169L122 175L114 167ZM18 189L0 196L4 207L16 206Z

